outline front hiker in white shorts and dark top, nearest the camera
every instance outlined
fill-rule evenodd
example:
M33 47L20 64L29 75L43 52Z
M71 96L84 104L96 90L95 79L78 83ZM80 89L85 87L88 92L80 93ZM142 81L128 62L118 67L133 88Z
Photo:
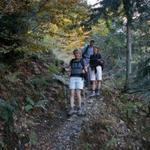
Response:
M73 51L74 59L70 61L70 111L69 115L73 115L77 113L78 115L82 115L82 99L81 99L81 90L84 87L84 79L83 74L87 71L85 62L81 58L81 52L78 49ZM77 96L78 100L78 107L75 106L75 95Z

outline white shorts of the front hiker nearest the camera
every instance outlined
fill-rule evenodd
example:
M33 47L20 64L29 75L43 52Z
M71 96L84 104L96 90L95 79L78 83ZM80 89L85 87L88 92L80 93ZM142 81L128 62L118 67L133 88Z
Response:
M82 90L84 87L84 80L82 77L70 77L69 88L71 90Z

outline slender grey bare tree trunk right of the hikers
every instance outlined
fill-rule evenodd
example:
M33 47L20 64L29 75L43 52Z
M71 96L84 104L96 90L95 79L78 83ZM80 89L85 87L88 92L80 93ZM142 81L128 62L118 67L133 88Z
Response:
M127 21L127 52L126 52L125 90L129 90L129 88L130 88L130 75L132 73L131 61L132 61L131 26L130 26L129 21Z

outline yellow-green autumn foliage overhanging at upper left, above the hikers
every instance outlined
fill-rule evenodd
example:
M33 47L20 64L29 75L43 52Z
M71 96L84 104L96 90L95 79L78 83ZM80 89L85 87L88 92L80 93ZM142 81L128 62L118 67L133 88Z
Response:
M81 46L85 35L79 24L88 17L87 10L81 0L0 3L0 53ZM46 36L49 44L44 43Z

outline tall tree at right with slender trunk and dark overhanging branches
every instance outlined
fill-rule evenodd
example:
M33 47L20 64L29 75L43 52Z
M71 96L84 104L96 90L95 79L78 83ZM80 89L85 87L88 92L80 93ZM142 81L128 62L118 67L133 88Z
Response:
M132 23L134 18L141 16L148 9L149 5L145 1L139 0L102 0L100 5L93 8L91 19L88 24L96 22L100 17L113 18L114 16L122 17L123 25L126 25L126 82L125 90L128 90L130 75L132 73Z

